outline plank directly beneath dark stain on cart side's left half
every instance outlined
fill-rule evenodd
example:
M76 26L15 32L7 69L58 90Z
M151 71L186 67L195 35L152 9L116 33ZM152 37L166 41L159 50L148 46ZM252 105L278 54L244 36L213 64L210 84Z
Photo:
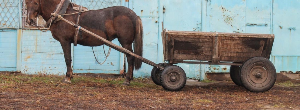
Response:
M187 55L211 55L212 51L193 51L193 50L174 50L174 54L187 54Z

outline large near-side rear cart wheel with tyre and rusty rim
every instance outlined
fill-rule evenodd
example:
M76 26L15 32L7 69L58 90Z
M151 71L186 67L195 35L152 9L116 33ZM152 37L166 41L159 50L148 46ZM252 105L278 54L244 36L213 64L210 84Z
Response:
M264 57L253 57L243 63L240 70L241 82L251 92L270 90L276 81L273 63Z

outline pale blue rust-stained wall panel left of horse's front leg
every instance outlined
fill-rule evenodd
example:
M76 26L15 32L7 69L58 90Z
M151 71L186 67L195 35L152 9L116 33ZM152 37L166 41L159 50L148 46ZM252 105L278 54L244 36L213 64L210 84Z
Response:
M50 31L22 31L21 72L25 74L65 74L67 68L61 45Z

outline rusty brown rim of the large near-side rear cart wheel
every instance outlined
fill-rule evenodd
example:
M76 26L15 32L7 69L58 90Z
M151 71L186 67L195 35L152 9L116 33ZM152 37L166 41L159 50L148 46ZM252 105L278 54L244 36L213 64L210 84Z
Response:
M247 72L247 80L251 85L255 87L268 85L271 80L271 78L268 78L271 76L271 72L266 65L263 63L254 63L249 69L250 70Z

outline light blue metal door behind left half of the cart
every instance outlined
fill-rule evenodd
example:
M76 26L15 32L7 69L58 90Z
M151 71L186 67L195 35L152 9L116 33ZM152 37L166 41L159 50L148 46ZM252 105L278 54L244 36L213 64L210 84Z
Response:
M167 30L200 31L201 0L164 0L164 28ZM187 77L199 79L199 64L176 64Z

